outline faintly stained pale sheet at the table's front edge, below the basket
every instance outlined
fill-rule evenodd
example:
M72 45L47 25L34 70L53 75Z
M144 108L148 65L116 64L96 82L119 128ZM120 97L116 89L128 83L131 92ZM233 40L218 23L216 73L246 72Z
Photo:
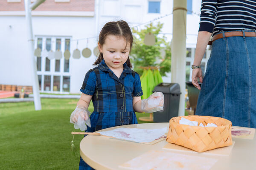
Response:
M129 170L209 170L218 159L150 150L119 167Z

